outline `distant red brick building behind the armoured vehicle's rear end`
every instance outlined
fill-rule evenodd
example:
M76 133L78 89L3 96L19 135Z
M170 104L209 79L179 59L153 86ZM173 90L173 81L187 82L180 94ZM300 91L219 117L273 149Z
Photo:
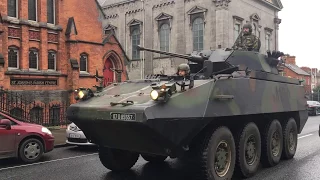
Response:
M286 64L283 71L283 76L303 80L305 92L311 93L311 75L296 65L295 56L286 56Z

